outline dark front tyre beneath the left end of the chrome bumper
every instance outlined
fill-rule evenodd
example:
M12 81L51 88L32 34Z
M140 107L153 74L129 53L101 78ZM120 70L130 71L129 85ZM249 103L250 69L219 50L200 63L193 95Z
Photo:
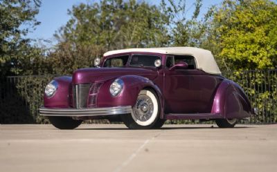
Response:
M82 123L82 120L73 120L71 117L53 117L48 116L49 121L53 126L62 130L71 130L77 128Z

